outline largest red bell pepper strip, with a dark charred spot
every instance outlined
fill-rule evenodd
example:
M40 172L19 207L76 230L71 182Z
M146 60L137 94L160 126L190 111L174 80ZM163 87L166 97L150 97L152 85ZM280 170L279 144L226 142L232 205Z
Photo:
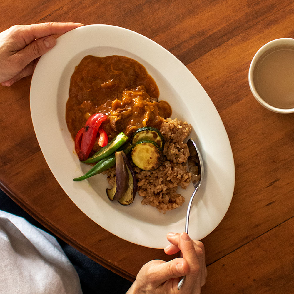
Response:
M95 113L91 115L85 125L82 142L81 151L79 154L79 159L81 161L86 160L89 157L91 150L96 141L98 129L103 121L107 119L107 115L102 113Z

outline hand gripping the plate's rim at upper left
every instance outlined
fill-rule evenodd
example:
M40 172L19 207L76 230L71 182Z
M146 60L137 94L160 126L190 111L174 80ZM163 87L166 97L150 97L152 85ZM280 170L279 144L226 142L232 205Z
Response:
M11 86L33 74L39 57L55 44L53 35L64 34L83 24L41 23L15 25L0 33L0 83Z

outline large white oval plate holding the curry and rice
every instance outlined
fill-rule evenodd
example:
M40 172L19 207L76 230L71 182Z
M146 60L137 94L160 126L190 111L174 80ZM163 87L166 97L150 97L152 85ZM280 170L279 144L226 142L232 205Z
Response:
M164 248L168 245L166 233L181 233L185 228L192 184L186 190L179 188L186 199L183 206L164 215L142 205L138 195L130 206L109 201L106 175L73 181L89 167L80 163L74 152L74 141L65 122L65 105L75 66L88 54L123 55L143 64L158 85L159 99L171 105L172 118L193 126L190 137L201 150L205 176L193 201L189 235L202 239L223 219L233 196L235 166L228 135L211 99L186 66L138 33L109 25L79 27L59 37L54 48L39 60L31 82L31 116L39 145L56 180L94 222L138 245Z

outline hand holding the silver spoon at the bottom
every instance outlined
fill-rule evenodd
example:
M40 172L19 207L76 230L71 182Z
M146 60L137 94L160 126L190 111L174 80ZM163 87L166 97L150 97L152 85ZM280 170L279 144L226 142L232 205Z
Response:
M207 276L203 243L191 240L186 233L169 233L167 238L171 244L164 249L165 253L175 254L181 250L183 258L149 261L143 265L127 294L201 293ZM183 275L186 278L178 290Z

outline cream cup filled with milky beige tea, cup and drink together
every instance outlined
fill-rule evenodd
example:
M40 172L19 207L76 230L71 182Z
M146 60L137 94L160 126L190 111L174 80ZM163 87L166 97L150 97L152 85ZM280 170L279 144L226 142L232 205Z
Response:
M254 55L249 86L255 99L278 113L294 112L294 39L275 39Z

